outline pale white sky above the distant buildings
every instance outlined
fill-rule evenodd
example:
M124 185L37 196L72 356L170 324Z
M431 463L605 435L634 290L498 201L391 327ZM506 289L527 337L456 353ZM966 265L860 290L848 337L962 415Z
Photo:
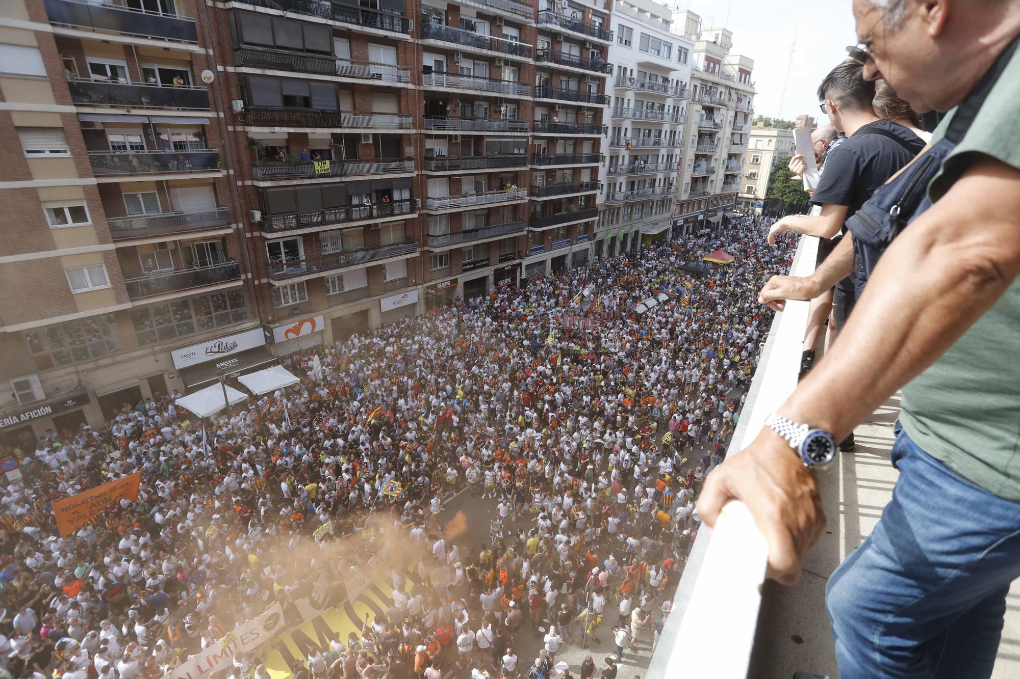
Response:
M807 113L820 118L815 91L828 71L847 58L847 46L857 43L851 0L657 1L700 14L705 28L725 24L733 32L730 54L755 60L751 74L758 91L755 115L793 120ZM797 41L790 61L795 31ZM789 79L783 97L787 64Z

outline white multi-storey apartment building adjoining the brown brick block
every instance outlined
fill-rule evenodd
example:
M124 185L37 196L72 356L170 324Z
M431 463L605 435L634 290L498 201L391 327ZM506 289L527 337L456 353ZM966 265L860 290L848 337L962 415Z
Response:
M680 195L695 46L693 39L671 33L670 14L651 0L613 5L609 161L602 174L597 257L669 236Z

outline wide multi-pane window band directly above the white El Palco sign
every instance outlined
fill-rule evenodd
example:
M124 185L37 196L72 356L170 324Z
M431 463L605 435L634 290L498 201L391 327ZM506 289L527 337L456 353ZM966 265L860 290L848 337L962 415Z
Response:
M238 288L132 309L129 315L135 337L144 346L240 323L247 320L248 307Z

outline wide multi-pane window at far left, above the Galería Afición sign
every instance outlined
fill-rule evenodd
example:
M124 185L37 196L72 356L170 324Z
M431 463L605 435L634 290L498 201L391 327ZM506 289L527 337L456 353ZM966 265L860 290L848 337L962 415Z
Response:
M37 370L90 361L123 349L113 314L26 330L22 336Z

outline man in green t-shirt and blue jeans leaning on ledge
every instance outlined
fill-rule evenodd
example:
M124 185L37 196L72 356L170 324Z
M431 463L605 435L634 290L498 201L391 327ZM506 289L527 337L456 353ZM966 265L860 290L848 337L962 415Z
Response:
M892 501L826 587L840 675L987 677L1020 578L1020 3L855 0L854 14L864 76L949 112L904 171L941 160L831 350L708 477L698 511L714 525L745 502L769 575L795 582L825 525L812 467L902 388ZM781 309L849 272L845 241L761 301Z

